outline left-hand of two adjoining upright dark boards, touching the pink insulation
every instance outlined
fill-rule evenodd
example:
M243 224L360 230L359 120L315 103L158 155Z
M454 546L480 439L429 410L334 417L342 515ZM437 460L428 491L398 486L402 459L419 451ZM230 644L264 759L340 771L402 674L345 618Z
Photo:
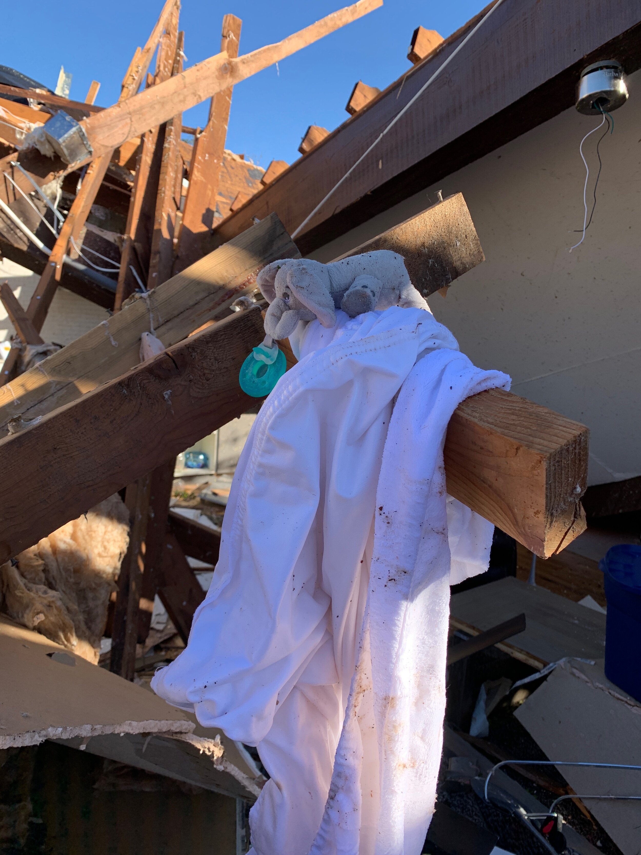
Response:
M150 501L150 475L127 486L125 502L129 510L129 546L122 559L111 630L109 670L133 680L136 674L138 604L143 582L145 539Z

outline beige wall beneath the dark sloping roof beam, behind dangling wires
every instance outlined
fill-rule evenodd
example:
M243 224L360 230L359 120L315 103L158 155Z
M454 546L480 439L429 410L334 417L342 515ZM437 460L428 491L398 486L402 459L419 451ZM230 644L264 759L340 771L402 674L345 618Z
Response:
M598 120L569 109L316 251L328 261L462 191L486 261L430 307L474 363L591 428L590 483L641 475L641 73L603 139L585 243L579 142ZM592 179L598 133L585 143ZM590 191L591 192L591 191Z

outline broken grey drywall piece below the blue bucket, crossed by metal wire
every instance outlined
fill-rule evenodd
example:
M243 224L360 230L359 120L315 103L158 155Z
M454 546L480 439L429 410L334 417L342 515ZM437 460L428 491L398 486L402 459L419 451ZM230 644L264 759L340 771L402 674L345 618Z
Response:
M595 665L564 663L515 712L550 760L641 765L641 704ZM641 771L559 766L575 793L641 795ZM641 803L583 799L624 855L641 851Z

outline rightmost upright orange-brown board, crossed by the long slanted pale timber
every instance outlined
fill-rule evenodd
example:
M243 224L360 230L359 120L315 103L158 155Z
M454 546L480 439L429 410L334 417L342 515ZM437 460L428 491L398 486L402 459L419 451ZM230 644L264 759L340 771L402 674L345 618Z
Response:
M225 15L222 19L221 53L226 53L231 59L238 56L242 26L243 21L235 15ZM207 125L194 139L189 188L173 267L175 273L203 256L203 233L208 233L214 226L216 193L221 178L232 91L230 86L212 97Z

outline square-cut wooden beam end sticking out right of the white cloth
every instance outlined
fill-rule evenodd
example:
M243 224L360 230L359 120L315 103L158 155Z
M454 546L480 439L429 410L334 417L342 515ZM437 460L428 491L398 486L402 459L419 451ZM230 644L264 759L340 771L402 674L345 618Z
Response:
M463 401L444 448L447 489L540 557L585 531L589 431L502 389Z

